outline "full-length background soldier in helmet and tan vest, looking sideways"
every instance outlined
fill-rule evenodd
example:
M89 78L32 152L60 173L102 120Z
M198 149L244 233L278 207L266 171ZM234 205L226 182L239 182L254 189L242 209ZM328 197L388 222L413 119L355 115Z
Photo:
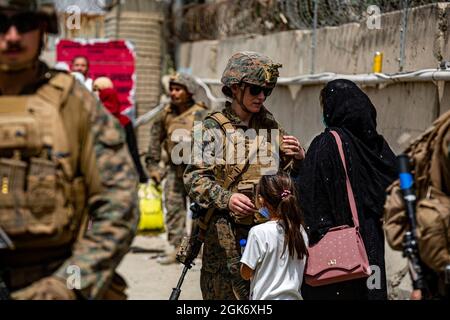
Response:
M176 252L184 235L186 191L183 185L183 172L185 164L180 164L179 161L175 160L174 157L180 156L175 152L177 150L175 145L179 138L183 138L183 141L188 143L194 122L203 120L206 115L206 106L194 100L197 87L195 79L186 73L171 75L169 78L170 104L156 119L150 132L150 143L145 159L147 170L150 177L158 184L165 177L164 205L170 247L166 251L166 256L158 259L161 264L176 262ZM178 132L185 132L186 134L183 137L178 137ZM164 169L159 166L162 148L169 157L164 164Z

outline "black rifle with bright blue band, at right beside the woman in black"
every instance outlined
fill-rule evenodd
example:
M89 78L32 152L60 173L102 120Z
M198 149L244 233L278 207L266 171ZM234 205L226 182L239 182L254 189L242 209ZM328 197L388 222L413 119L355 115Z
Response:
M414 177L410 169L410 159L402 154L397 157L400 177L400 189L405 202L409 229L406 231L403 242L403 256L408 259L409 274L414 289L422 291L424 297L430 295L427 281L424 276L424 266L420 261L419 248L416 236L416 194L414 190Z

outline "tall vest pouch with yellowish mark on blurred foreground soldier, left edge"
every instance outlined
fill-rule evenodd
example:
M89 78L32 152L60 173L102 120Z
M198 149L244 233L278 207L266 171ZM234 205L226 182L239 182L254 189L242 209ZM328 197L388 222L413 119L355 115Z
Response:
M15 159L0 159L0 226L8 233L23 231L21 212L25 206L26 163Z

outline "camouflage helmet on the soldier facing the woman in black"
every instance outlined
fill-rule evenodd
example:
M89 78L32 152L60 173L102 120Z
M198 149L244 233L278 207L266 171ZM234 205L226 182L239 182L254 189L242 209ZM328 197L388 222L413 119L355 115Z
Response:
M222 91L226 95L233 84L242 82L273 88L279 77L278 68L281 64L274 63L269 57L257 52L243 51L234 54L223 72Z

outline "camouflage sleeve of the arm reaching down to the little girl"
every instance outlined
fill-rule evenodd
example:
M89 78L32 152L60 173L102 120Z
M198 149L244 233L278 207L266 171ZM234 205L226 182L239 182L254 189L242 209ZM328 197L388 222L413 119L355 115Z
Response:
M232 192L224 189L217 179L217 172L224 172L224 165L203 161L206 148L210 142L203 142L203 134L206 130L214 129L222 132L219 124L212 119L202 122L202 130L193 130L194 152L200 151L202 159L194 158L184 171L184 185L189 197L204 208L215 207L227 209ZM198 154L197 154L198 156Z

